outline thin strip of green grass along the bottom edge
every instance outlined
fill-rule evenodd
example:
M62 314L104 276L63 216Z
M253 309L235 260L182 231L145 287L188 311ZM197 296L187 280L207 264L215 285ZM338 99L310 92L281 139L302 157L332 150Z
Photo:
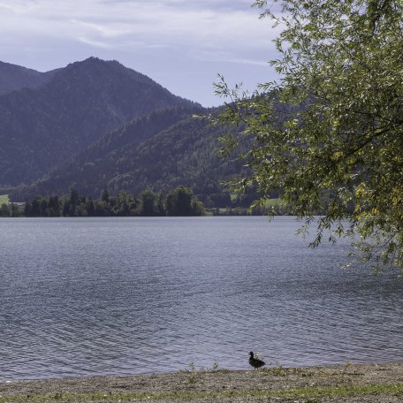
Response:
M103 402L131 401L135 399L152 400L192 400L223 398L278 398L304 399L315 401L325 397L346 398L365 397L369 395L403 396L403 384L346 385L346 386L312 386L291 390L276 391L224 391L224 392L131 392L131 393L51 393L27 396L2 396L0 403L49 403L49 402ZM364 399L362 400L364 401Z

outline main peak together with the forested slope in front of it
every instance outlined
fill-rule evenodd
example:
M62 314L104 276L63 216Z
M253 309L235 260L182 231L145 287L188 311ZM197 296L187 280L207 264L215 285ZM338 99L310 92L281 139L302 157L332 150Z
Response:
M67 65L0 96L0 194L24 201L74 187L98 198L184 185L207 206L228 205L221 184L244 168L217 156L228 129L194 118L218 112L116 61Z

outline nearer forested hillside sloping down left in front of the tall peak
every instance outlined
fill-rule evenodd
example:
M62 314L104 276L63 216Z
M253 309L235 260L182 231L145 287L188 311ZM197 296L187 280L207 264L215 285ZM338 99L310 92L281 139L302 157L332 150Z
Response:
M168 108L133 119L33 186L15 189L11 197L24 200L36 194L67 194L74 187L96 198L103 189L139 195L148 188L165 193L184 185L192 187L204 202L215 206L221 200L226 205L229 194L222 182L242 168L240 163L217 156L221 147L217 138L223 129L195 118L195 113L206 110Z

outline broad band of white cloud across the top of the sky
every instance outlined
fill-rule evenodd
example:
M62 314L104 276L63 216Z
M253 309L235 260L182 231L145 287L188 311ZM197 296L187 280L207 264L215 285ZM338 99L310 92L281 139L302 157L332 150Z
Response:
M268 49L270 26L248 1L13 0L0 16L2 37L69 39L96 47ZM228 6L230 4L230 6ZM218 53L217 53L218 55ZM264 51L262 52L264 55Z

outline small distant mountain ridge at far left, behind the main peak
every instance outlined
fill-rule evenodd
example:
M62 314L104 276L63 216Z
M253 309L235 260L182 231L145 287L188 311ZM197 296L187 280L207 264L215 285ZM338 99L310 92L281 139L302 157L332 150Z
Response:
M0 96L21 88L39 87L57 70L37 72L20 65L0 62Z

